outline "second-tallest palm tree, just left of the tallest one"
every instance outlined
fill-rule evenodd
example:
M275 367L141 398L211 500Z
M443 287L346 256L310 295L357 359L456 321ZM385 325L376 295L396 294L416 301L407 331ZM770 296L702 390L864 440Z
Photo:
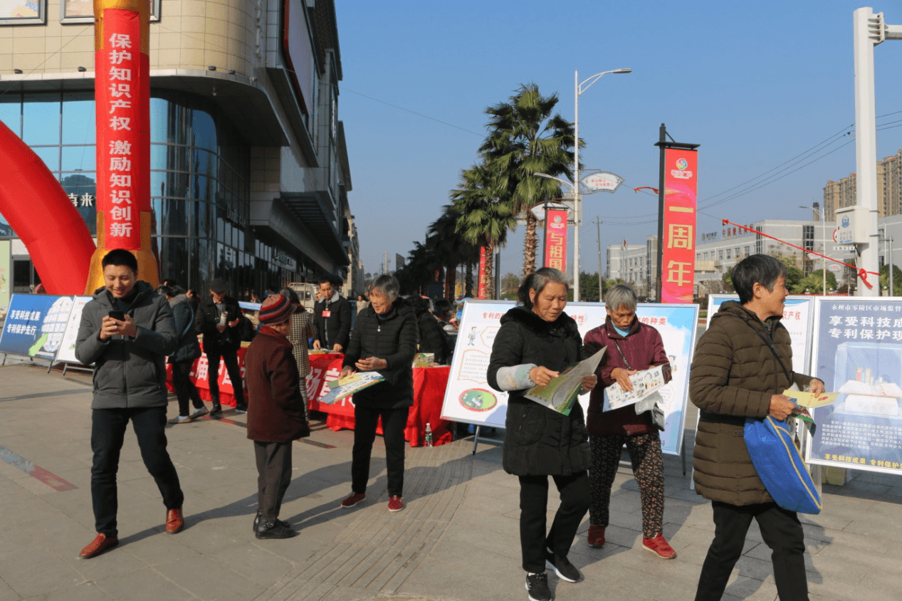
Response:
M460 186L451 191L454 208L460 212L456 231L465 241L485 246L489 260L483 269L485 294L494 298L492 260L494 249L507 241L508 230L516 216L509 201L502 198L503 186L499 173L485 162L461 171Z

